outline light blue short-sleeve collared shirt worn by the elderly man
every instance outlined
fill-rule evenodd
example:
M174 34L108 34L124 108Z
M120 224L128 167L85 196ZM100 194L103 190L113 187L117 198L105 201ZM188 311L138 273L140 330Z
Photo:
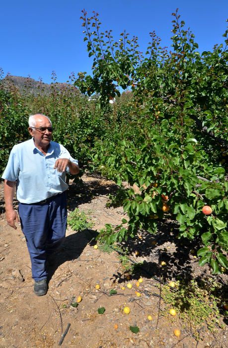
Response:
M32 138L12 148L2 178L16 181L19 202L40 202L67 190L66 172L60 173L54 169L55 162L62 158L78 165L63 145L51 141L45 156L35 147ZM68 168L67 172L70 173Z

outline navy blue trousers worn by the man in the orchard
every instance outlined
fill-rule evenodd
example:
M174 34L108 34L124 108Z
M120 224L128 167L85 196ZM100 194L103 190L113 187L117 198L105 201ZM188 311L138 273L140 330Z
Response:
M47 256L62 243L67 228L66 193L44 203L19 203L21 229L25 235L34 280L47 278Z

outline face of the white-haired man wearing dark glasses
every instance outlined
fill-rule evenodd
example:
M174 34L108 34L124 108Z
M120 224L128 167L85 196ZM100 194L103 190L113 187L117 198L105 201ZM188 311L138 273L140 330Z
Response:
M35 127L45 128L45 127L52 127L52 125L46 117L42 115L37 115ZM39 129L35 129L32 127L29 127L28 130L34 139L36 146L40 146L40 147L49 146L50 141L52 140L52 132L50 132L48 129L46 129L44 132L41 132Z

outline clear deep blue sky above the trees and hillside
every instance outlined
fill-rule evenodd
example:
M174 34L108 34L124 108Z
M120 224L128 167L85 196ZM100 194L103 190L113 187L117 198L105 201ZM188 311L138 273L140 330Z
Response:
M170 46L171 13L177 7L201 52L223 42L228 0L1 0L0 67L11 75L42 77L45 83L55 71L58 82L66 82L71 72L91 71L81 9L90 16L98 12L102 30L112 29L116 39L124 29L138 36L145 51L152 30L162 46Z

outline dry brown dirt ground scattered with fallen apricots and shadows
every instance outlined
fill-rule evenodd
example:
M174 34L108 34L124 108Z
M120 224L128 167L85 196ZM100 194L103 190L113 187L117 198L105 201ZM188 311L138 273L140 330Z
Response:
M94 226L92 230L80 232L68 228L66 241L49 268L49 291L42 297L33 294L30 259L20 226L13 230L4 220L3 184L0 184L0 347L58 347L68 324L64 348L227 347L227 327L218 328L214 334L204 328L199 332L200 340L196 341L178 315L171 317L167 313L159 298L159 286L155 286L159 283L149 276L162 275L167 281L175 280L178 275L191 274L196 278L202 272L208 273L189 253L191 245L178 244L172 222L163 225L155 237L142 234L142 239L128 243L130 259L144 261L145 271L132 275L132 289L121 289L128 280L118 253L108 254L93 248L95 231L105 223L118 224L124 217L122 208L105 206L107 194L114 192L116 186L99 177L83 176L82 179L80 187L70 183L69 211L78 207L89 212ZM152 247L154 239L157 244ZM138 258L134 254L136 248L140 252ZM162 270L161 260L166 261ZM144 281L136 288L135 280L140 275ZM226 280L226 276L221 278L223 283ZM95 289L97 283L99 290ZM117 290L117 294L110 296L111 289ZM135 295L136 289L141 297ZM79 295L82 301L73 307ZM128 315L123 313L125 305L131 309ZM98 314L99 307L105 307L104 314ZM149 314L152 321L147 319ZM138 326L140 332L132 333L130 326ZM181 329L179 338L173 335L175 328Z

